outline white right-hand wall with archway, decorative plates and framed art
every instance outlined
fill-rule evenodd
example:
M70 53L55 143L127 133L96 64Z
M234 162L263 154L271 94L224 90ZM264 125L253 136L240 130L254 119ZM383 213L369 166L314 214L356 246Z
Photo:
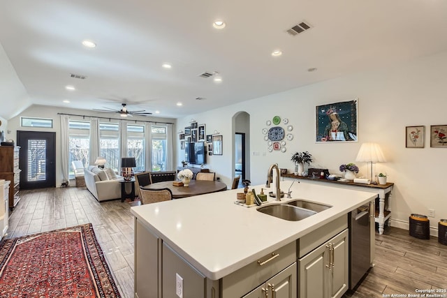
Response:
M312 73L309 73L312 75ZM207 124L207 134L217 130L223 135L223 156L208 156L208 166L230 184L233 170L232 117L245 111L250 114L250 177L252 184L265 183L268 166L293 170L291 155L309 151L313 166L339 173L342 163L355 162L363 142L381 145L388 162L379 163L374 172L387 172L395 183L390 208L392 225L405 225L411 213L428 214L432 227L439 218L447 218L446 168L447 147L430 148L430 125L447 125L447 52L410 61L384 70L339 77L281 94L248 100L244 103L193 114L178 119L178 127L189 125L191 118ZM315 107L326 103L358 98L358 142L316 144ZM262 128L274 115L288 118L294 138L287 142L285 153L267 151ZM425 148L405 147L405 126L425 126ZM179 161L181 153L178 153ZM360 175L367 176L366 163L356 163ZM248 169L247 169L248 170ZM328 194L330 195L330 194Z

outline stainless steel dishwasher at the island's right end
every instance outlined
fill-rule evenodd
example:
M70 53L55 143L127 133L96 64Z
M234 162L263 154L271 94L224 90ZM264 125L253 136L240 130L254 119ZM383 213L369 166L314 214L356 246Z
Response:
M370 207L370 205L372 207ZM349 213L349 289L353 290L371 267L371 239L374 204L367 204ZM374 231L374 230L373 230ZM373 243L374 245L374 243Z

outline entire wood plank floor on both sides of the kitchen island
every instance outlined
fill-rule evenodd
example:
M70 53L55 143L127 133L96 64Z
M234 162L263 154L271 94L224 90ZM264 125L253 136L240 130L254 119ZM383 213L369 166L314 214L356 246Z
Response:
M91 223L119 291L123 297L133 297L130 208L139 202L99 203L86 188L73 186L20 191L20 196L10 214L8 238ZM406 230L386 228L383 235L376 234L374 263L356 292L344 297L409 297L418 294L416 289L447 289L447 246L439 244L436 237L421 240Z

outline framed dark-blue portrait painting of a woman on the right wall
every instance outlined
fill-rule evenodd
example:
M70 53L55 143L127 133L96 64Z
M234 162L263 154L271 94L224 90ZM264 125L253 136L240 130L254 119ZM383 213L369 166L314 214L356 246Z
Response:
M357 142L358 98L316 106L316 142Z

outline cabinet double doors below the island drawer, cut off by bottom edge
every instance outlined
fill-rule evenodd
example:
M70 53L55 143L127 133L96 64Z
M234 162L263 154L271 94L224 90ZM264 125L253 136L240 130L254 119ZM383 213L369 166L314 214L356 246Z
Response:
M242 298L295 298L296 262Z

